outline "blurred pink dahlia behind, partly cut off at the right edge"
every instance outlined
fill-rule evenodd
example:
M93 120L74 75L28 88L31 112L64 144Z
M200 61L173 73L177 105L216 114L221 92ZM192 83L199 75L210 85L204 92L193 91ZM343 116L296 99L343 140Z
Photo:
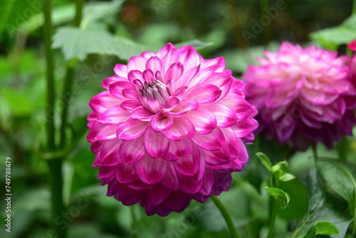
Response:
M332 148L333 141L352 135L356 90L347 56L288 42L264 54L261 66L249 66L243 76L246 100L258 109L258 132L300 150L310 142Z

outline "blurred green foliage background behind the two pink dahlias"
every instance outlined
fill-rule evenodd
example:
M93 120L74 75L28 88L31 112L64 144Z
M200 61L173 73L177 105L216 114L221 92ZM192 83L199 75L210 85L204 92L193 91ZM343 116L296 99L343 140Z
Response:
M13 219L11 234L1 227L0 237L51 237L48 167L41 158L46 157L41 152L46 138L41 0L7 2L0 3L4 13L0 17L0 181L4 191L5 157L9 156ZM125 63L140 51L157 51L167 42L188 41L200 48L204 58L224 56L226 68L239 78L263 49L276 49L281 41L310 43L309 33L337 26L350 16L351 8L351 0L85 1L82 26L91 34L79 36L63 30L73 21L73 1L53 0L54 121L59 124L61 100L68 100L72 131L67 132L67 143L73 143L63 167L68 213L58 219L63 227L69 225L68 236L229 237L224 219L212 202L192 202L181 214L168 217L147 217L135 205L137 222L132 223L130 209L106 197L106 186L101 187L96 177L98 169L91 167L94 155L85 140L85 117L90 113L88 101L103 90L101 81L113 75L116 63ZM270 23L266 24L268 19ZM112 41L112 37L120 41ZM66 59L72 55L79 60L75 87L63 95ZM356 143L350 139L350 144L349 157L355 160ZM276 234L293 231L307 209L305 177L314 166L311 152L295 152L263 138L247 147L251 159L243 172L235 173L231 191L224 192L221 201L229 207L241 237L266 237L268 194L261 187L266 185L268 173L254 154L263 151L273 162L288 158L290 172L298 179L281 183L291 200L286 210L278 211ZM337 152L322 147L319 152L321 156L337 157ZM0 195L1 225L6 216L4 194Z

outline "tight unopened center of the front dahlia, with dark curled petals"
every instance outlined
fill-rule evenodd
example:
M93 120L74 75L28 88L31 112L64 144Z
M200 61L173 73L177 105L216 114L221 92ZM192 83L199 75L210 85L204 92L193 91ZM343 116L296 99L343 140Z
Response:
M158 100L159 104L165 105L169 98L166 86L156 79L151 82L146 82L140 89L141 95L147 96L148 100Z

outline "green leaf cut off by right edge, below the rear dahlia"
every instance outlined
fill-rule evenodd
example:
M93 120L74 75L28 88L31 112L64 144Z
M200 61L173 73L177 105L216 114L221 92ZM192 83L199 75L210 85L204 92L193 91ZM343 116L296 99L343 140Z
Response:
M354 218L353 229L356 229L356 165L350 162L342 164L333 160L318 160L317 169L325 185L345 199Z

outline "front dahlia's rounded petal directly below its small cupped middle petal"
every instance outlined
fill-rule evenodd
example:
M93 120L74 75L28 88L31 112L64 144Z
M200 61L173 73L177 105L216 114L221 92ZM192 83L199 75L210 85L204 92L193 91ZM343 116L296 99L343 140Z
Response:
M169 139L162 133L156 133L151 128L147 128L144 135L143 145L145 146L148 155L158 159L167 154Z

